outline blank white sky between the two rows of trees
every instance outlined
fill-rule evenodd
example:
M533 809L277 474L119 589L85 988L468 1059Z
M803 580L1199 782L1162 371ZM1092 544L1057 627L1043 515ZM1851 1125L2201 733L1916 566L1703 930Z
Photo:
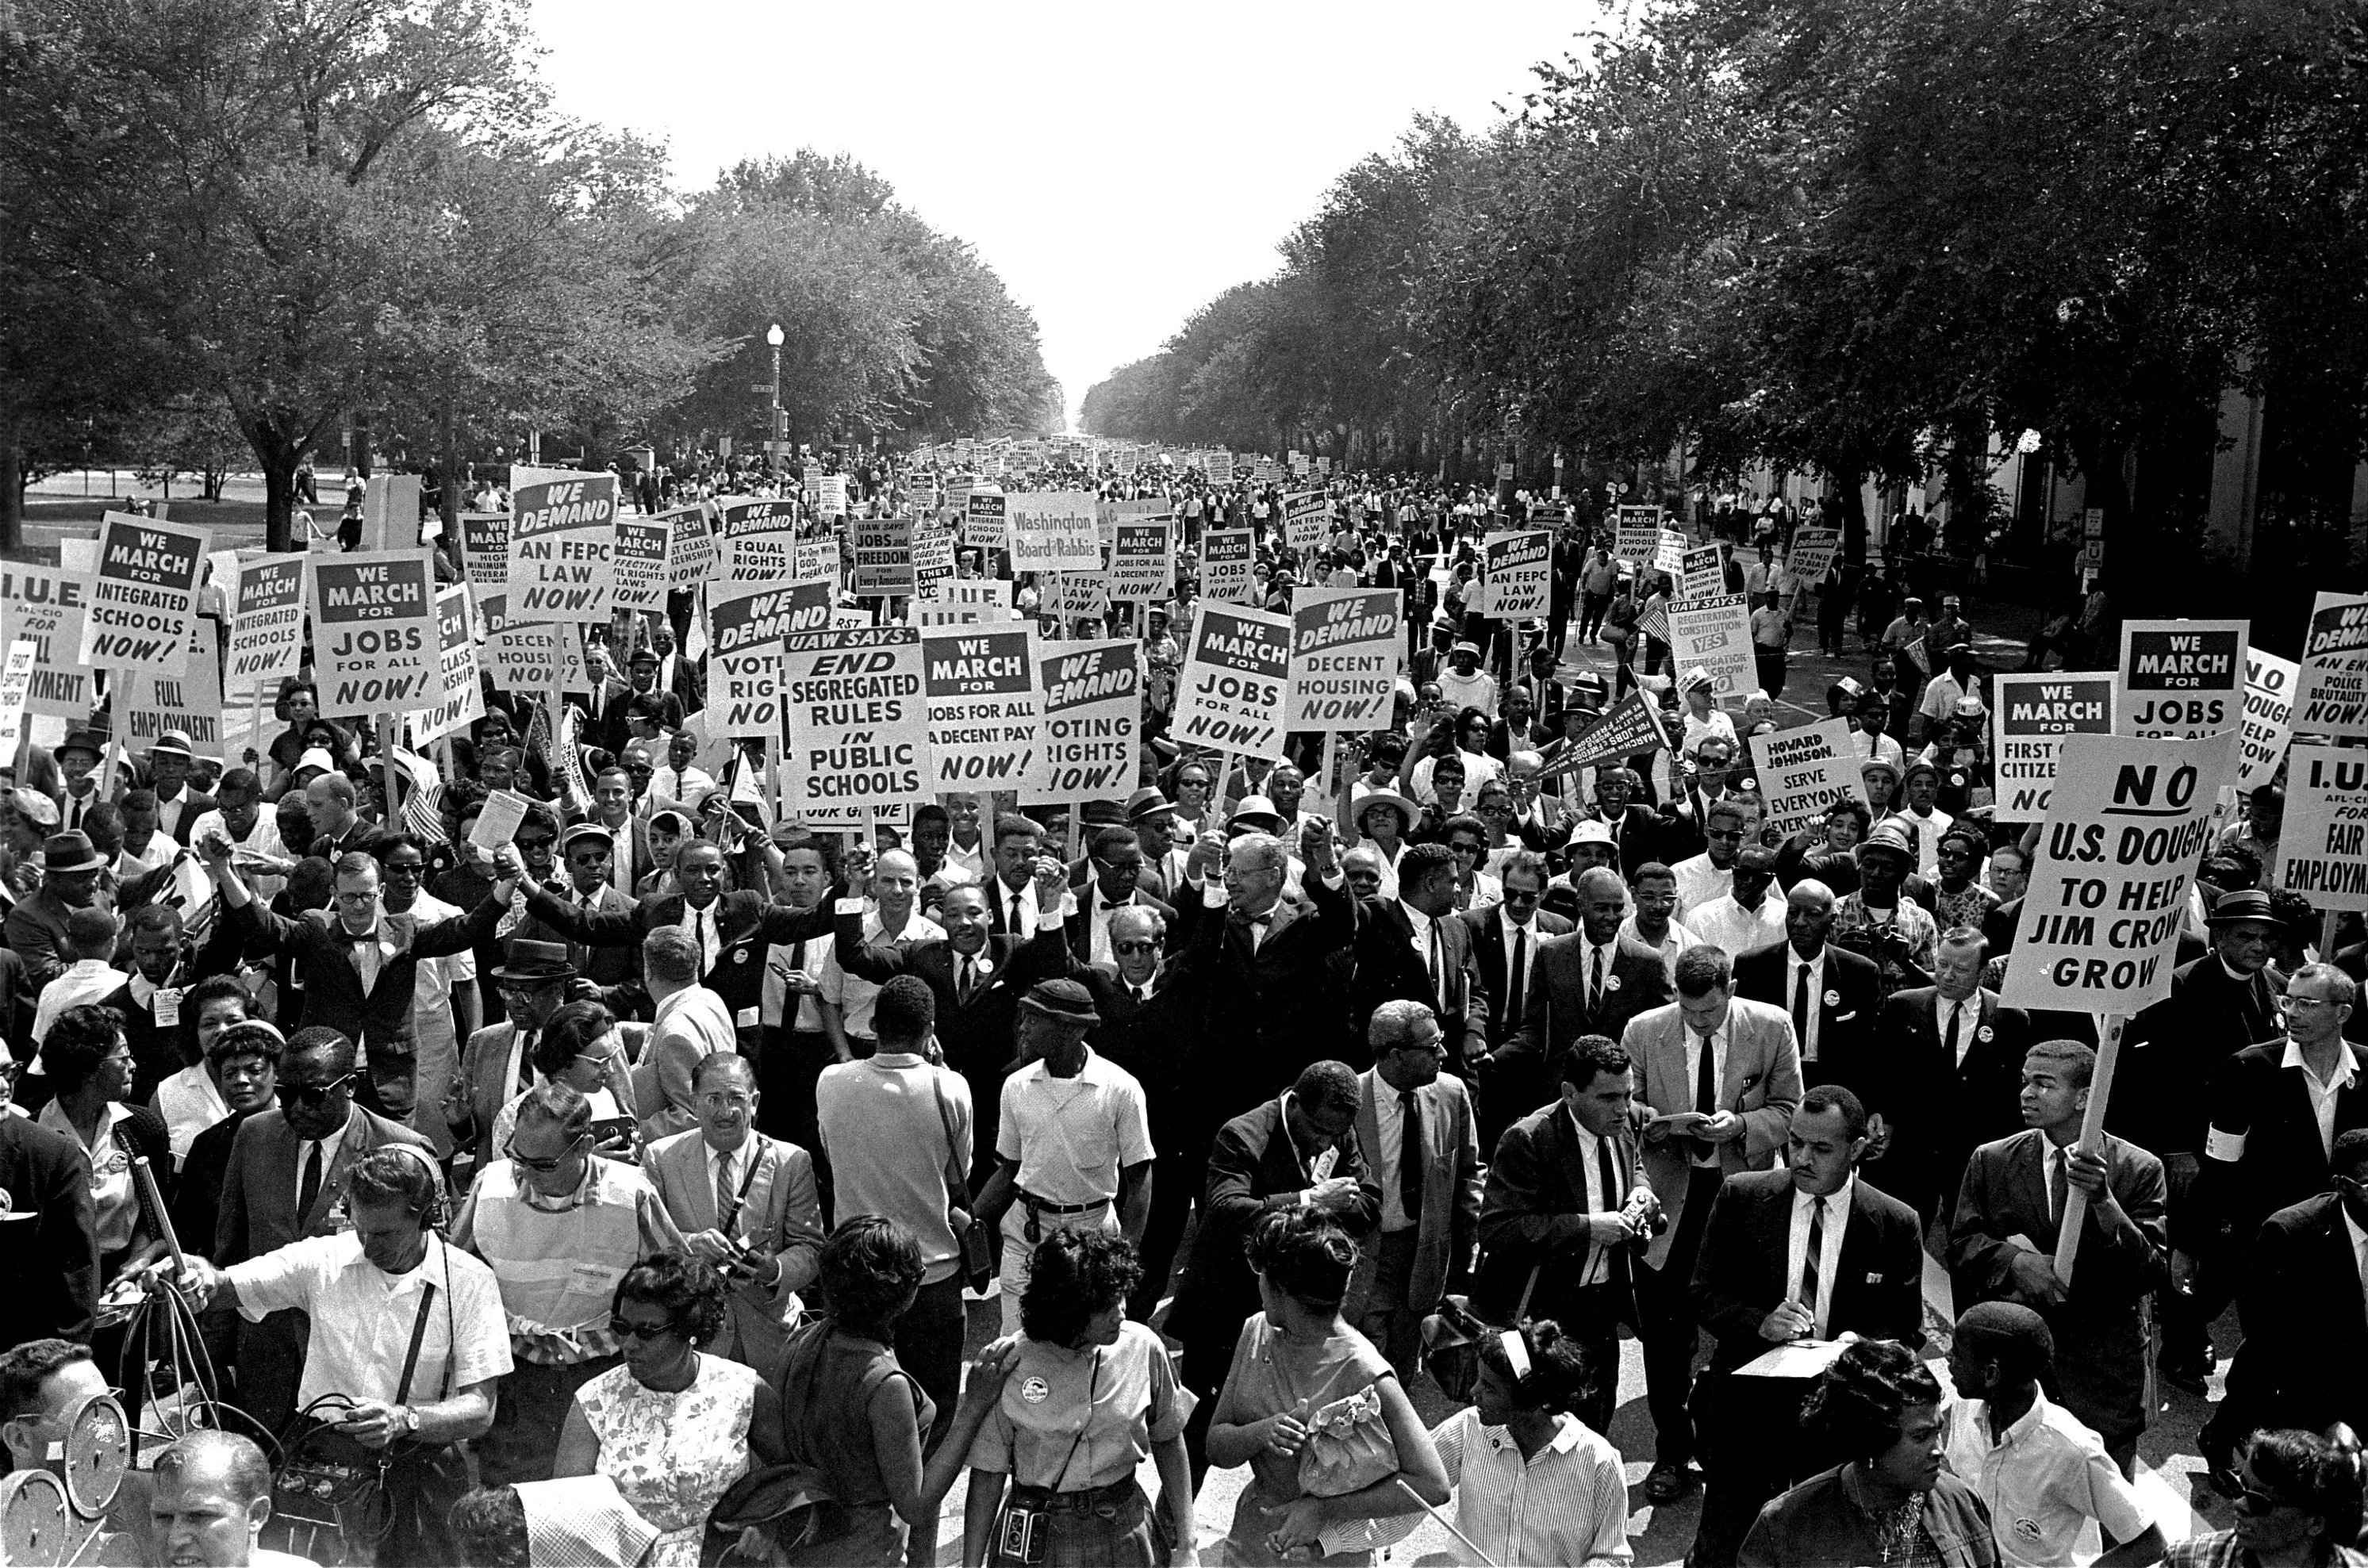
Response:
M781 5L533 0L568 114L673 149L675 182L845 152L1035 310L1068 396L1236 282L1414 114L1494 123L1598 21L1584 0Z

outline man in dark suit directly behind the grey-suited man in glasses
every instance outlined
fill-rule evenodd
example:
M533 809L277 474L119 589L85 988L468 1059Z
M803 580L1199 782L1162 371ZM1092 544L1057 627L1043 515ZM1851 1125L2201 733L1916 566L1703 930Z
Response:
M1473 959L1473 928L1456 919L1456 853L1416 843L1397 857L1397 898L1359 898L1350 947L1347 1023L1354 1042L1343 1056L1371 1054L1366 1030L1383 1002L1423 1002L1459 1071L1487 1056L1487 988Z

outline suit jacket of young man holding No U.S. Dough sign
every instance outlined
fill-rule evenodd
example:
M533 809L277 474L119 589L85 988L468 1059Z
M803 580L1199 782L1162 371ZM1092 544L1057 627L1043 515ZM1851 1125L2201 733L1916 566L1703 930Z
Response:
M1949 1220L1949 1289L1958 1312L1977 1300L2020 1300L2010 1272L2022 1236L2055 1251L2063 1222L2048 1206L2046 1132L2036 1127L1982 1144L1965 1161ZM2138 1300L2169 1279L2162 1161L2105 1137L2108 1184L2136 1236L2096 1220L2081 1225L2072 1286L2055 1305L2020 1300L2055 1334L2053 1388L2105 1445L2145 1431L2145 1331Z

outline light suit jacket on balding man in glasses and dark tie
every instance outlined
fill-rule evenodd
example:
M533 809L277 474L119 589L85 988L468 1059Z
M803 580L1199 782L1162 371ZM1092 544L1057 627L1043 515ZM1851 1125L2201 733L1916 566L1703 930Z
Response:
M699 1127L644 1149L642 1172L658 1189L675 1229L684 1236L718 1229L713 1165ZM755 1135L755 1163L744 1177L741 1206L727 1234L755 1253L779 1258L781 1281L772 1289L729 1284L722 1334L706 1350L770 1379L789 1345L798 1291L822 1272L822 1199L815 1189L815 1156L777 1137Z

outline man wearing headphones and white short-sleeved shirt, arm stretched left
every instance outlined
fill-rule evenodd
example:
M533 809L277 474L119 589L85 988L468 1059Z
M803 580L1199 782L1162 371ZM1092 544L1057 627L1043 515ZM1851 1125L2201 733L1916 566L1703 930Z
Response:
M511 1369L502 1291L490 1267L436 1234L445 1187L426 1151L365 1153L346 1199L353 1229L227 1270L189 1258L182 1289L199 1310L227 1305L249 1322L287 1307L310 1315L287 1452L362 1469L384 1461L393 1528L377 1561L457 1563L445 1514L469 1490L459 1445L493 1426L495 1383ZM170 1270L161 1260L152 1272Z

